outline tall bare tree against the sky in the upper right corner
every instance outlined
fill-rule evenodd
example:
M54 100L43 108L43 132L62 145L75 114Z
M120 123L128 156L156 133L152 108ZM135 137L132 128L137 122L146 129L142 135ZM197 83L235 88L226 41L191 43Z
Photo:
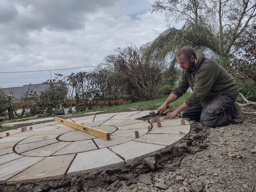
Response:
M227 55L255 33L251 26L256 22L256 1L252 0L155 0L152 12L164 13L168 26L183 21L183 29L191 23L198 28L205 22L200 31L212 27L212 34L218 37L218 49L211 48L216 54Z

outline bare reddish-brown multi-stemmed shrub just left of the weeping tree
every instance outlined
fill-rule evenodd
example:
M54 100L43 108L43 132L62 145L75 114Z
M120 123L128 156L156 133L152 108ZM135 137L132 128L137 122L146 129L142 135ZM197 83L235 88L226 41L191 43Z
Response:
M126 76L126 92L132 100L153 100L161 82L161 63L150 60L143 46L118 48L118 66Z

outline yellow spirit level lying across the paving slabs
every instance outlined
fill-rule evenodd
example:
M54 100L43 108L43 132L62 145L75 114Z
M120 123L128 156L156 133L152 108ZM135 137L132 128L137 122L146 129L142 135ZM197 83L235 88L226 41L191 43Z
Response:
M110 140L110 133L108 133L106 131L102 131L102 130L99 130L99 129L96 129L96 128L92 128L92 127L89 127L89 126L86 126L86 125L83 125L83 124L70 122L68 120L61 119L61 118L58 118L58 117L54 117L54 120L57 121L57 122L60 122L64 125L67 125L67 126L70 126L72 128L78 129L80 131L86 132L88 134L100 137L100 138L105 139L105 140Z

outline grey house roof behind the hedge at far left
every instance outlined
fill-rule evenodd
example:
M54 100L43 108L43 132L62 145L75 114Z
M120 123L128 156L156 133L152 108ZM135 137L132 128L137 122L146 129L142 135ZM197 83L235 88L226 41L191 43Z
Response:
M12 92L12 96L14 97L12 101L19 101L22 97L26 96L26 92L28 92L27 98L35 98L34 95L30 93L36 92L36 95L40 95L41 91L50 88L50 84L30 84L23 85L22 87L10 87L10 88L2 88L6 94Z

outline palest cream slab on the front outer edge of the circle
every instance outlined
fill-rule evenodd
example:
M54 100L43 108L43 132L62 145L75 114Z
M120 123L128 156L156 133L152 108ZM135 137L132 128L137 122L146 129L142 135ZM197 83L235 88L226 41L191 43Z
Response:
M114 168L124 164L124 161L107 148L78 153L70 166L67 175L76 176L77 174L100 171L104 168Z

